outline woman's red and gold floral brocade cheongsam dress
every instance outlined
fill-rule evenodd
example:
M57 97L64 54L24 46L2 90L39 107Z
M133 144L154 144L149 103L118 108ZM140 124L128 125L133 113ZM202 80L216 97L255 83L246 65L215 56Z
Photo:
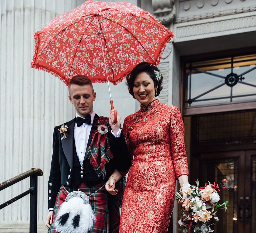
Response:
M188 174L184 124L177 107L154 100L124 120L133 157L121 209L120 233L166 233L175 179Z

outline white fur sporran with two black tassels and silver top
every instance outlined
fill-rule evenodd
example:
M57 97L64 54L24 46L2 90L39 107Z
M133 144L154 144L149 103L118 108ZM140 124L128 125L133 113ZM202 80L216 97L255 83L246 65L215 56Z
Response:
M55 230L59 233L87 233L95 221L88 196L81 191L73 191L67 195L59 208Z

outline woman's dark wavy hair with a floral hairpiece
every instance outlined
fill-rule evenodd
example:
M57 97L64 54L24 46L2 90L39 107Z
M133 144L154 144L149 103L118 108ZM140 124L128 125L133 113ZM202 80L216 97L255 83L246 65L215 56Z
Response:
M162 91L162 82L163 82L163 76L158 70L157 67L149 64L148 62L142 62L135 66L131 72L130 75L126 78L126 85L128 86L129 93L133 96L135 99L134 93L133 93L133 87L134 87L134 80L135 78L140 74L145 72L149 75L149 77L153 80L154 86L157 87L155 96L159 96L160 92Z

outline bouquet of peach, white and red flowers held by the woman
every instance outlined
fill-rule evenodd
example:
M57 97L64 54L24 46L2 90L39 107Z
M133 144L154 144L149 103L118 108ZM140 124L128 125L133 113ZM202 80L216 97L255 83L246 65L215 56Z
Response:
M176 192L175 200L182 206L179 225L183 233L214 231L210 226L214 221L219 220L216 216L217 211L227 209L228 201L218 204L220 196L217 193L220 192L219 185L227 189L224 185L225 181L226 179L223 179L218 184L205 183L204 187L199 188L197 180L196 185L186 183L179 192Z

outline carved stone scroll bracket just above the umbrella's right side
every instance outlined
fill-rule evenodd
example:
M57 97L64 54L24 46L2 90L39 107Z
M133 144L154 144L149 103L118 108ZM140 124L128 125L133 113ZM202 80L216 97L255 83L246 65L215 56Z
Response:
M174 0L152 0L154 15L163 24L172 22L176 15Z

